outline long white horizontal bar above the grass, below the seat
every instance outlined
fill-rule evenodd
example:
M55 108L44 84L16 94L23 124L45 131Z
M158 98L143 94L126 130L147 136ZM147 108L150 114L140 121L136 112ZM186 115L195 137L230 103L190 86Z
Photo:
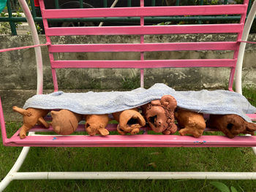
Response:
M17 172L13 180L256 180L255 172Z

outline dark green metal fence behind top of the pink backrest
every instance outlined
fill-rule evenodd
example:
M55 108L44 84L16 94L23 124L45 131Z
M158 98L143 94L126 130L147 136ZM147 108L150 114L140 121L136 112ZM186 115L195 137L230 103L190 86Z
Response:
M51 0L53 2L53 0ZM61 0L60 0L61 1ZM70 0L71 1L71 0ZM86 0L72 0L77 1L80 8L84 7L84 2L87 2ZM100 0L97 0L98 2ZM113 0L114 1L114 0ZM119 0L123 1L123 0ZM236 1L240 0L162 0L162 5L176 5L181 6L184 4L229 4L234 3ZM39 8L34 6L34 0L27 0L29 7L31 8L31 14L34 18L34 21L36 23L39 23L39 26L42 28L42 18L39 14ZM110 7L110 1L108 0L102 0L102 7ZM127 0L127 3L124 6L132 7L132 0ZM150 2L149 6L155 6L156 0L148 0L147 2ZM159 1L157 1L159 2ZM54 0L54 5L56 9L60 9L60 2L59 0ZM252 0L249 0L249 8L252 6ZM7 22L10 25L10 30L12 35L17 35L16 26L17 23L20 22L26 22L26 18L22 17L19 13L21 12L21 9L18 5L17 0L7 0L7 7L4 9L4 12L1 12L0 17L0 25L1 23ZM197 22L197 23L203 23L203 22L225 22L225 20L234 20L238 21L240 19L240 16L233 15L233 16L227 16L227 15L218 15L218 16L181 16L181 17L146 17L145 23L159 23L159 24L165 24L167 23L178 23L178 22ZM67 19L54 19L50 20L50 23L64 23L64 22L92 22L92 23L99 23L99 22L140 22L140 18L138 17L131 17L131 18L67 18Z

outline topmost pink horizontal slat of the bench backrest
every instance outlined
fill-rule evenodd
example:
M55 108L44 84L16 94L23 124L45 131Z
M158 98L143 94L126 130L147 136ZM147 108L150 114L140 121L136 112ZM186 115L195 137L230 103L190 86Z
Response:
M175 6L175 7L116 7L94 9L42 9L44 18L107 18L175 15L240 15L244 4Z

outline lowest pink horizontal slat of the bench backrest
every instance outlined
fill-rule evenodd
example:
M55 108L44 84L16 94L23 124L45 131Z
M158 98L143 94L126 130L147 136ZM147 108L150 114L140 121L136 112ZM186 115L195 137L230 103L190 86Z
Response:
M173 60L63 60L53 61L54 69L61 68L159 68L159 67L234 67L236 59L173 59Z

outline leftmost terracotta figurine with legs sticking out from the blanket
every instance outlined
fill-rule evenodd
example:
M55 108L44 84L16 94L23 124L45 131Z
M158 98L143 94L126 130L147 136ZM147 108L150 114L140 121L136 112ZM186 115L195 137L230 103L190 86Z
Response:
M44 120L44 117L48 114L48 110L28 108L26 110L13 106L12 110L23 115L23 126L20 128L20 139L26 138L26 132L37 123L42 124L46 128L49 128L49 124Z

